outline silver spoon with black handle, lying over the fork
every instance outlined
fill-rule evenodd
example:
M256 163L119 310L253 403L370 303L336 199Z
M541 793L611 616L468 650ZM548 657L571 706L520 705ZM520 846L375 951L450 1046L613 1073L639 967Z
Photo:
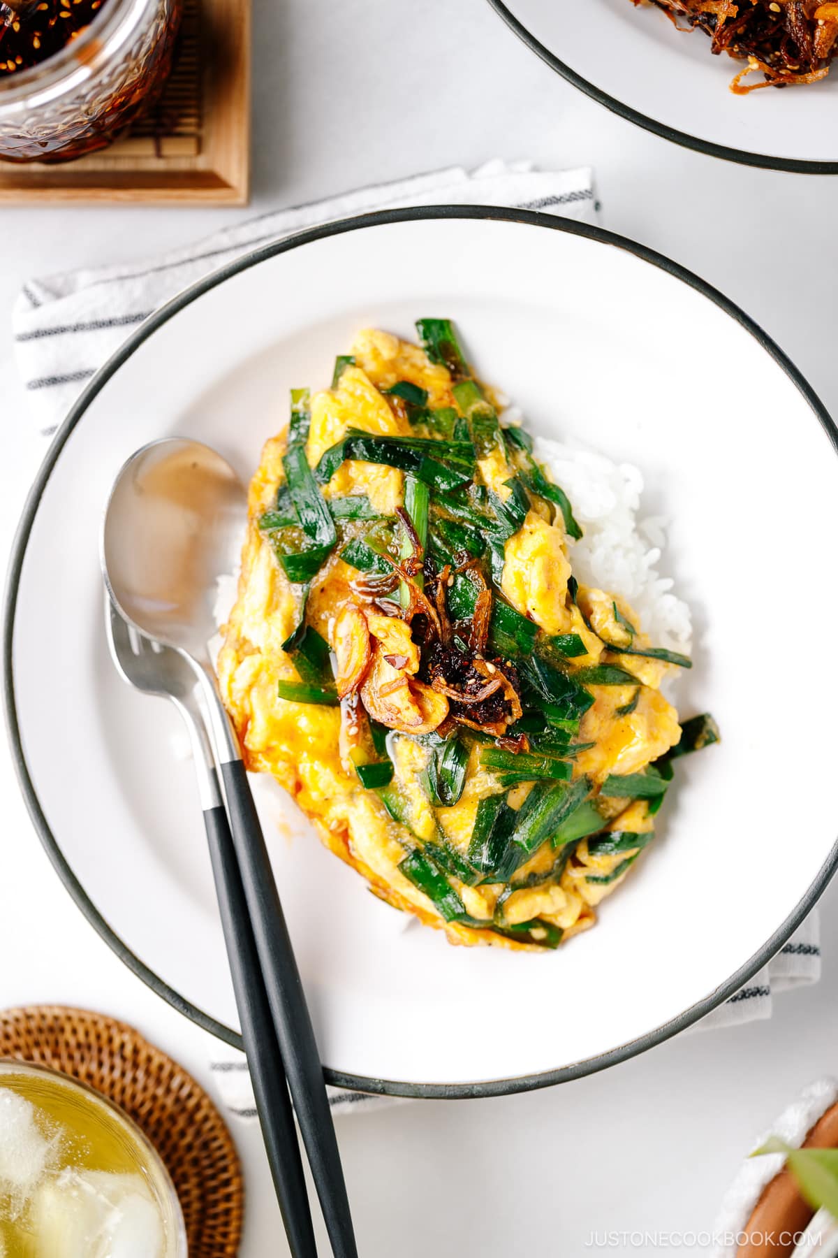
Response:
M323 1068L241 751L209 642L217 581L235 570L246 494L216 450L152 442L124 464L102 528L102 574L124 619L177 650L201 679L215 759L279 1048L335 1258L357 1258Z

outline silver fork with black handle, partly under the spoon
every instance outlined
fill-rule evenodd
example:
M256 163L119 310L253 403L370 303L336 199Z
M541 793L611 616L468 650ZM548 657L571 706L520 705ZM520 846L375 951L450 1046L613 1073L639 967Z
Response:
M162 647L137 633L123 620L107 594L104 604L108 649L117 672L142 694L171 699L190 736L241 1038L268 1161L291 1254L294 1258L315 1258L317 1243L305 1195L305 1175L297 1144L294 1115L261 981L239 862L219 791L215 757L206 732L201 683L181 652Z

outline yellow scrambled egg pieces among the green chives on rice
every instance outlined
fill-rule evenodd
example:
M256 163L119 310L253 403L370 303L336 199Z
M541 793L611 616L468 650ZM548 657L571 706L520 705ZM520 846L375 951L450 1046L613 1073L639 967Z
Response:
M400 381L425 390L428 406L456 405L449 370L431 362L415 345L386 332L364 331L356 338L352 356L354 365L343 370L337 386L312 399L307 440L312 467L351 426L379 435L410 435L405 409L392 405L382 394ZM567 936L590 926L596 905L622 881L639 845L597 853L597 847L607 849L608 844L590 842L589 847L589 839L583 838L569 845L560 874L540 884L539 876L549 874L557 859L549 843L518 871L511 888L498 883L464 886L452 878L474 925L445 921L432 899L400 869L405 858L403 825L408 824L411 834L420 840L441 832L451 848L464 855L467 853L480 801L498 793L496 775L480 765L479 742L471 747L459 800L452 806L435 809L422 789L428 747L410 736L391 732L388 751L395 781L407 808L407 815L395 820L379 793L364 789L358 780L346 703L342 721L339 706L299 703L278 696L279 682L299 681L291 655L283 649L299 619L299 591L286 579L259 521L273 508L278 486L284 479L281 458L286 442L288 434L283 431L266 443L250 486L250 523L237 601L225 626L219 659L221 696L239 733L248 769L271 774L310 818L325 845L353 866L377 896L443 928L451 942L533 946L533 940L521 942L491 931L501 899L501 920L508 927L538 918L559 927ZM484 484L501 499L509 496L506 481L514 468L501 452L494 450L482 458L479 472ZM403 501L403 473L381 464L344 462L323 487L323 494L327 501L366 494L376 512L392 516ZM606 653L598 634L612 644L628 647L623 623L638 628L637 618L622 599L601 590L579 587L575 601L568 599L568 538L560 512L554 513L552 522L547 515L539 502L506 541L501 590L513 608L547 634L577 634L582 639L587 654L569 662L574 668L597 665ZM347 522L343 527L346 542L361 526ZM339 557L339 550L338 546L332 551L312 584L307 618L333 652L346 654L358 649L358 626L353 616L359 613L351 590L358 571ZM616 619L617 610L622 620ZM384 615L367 614L366 619L369 637L364 634L363 642L372 643L377 652L376 667L382 671L374 683L378 692L387 689L387 681L395 681L397 688L391 691L391 699L396 702L401 694L400 702L413 703L420 717L427 716L427 704L432 707L440 696L431 699L418 689L418 652L410 630L402 621ZM634 644L647 642L639 632L633 640ZM363 649L369 648L364 645ZM621 657L616 645L607 648L607 660L631 669L643 684L590 686L594 702L582 717L577 736L580 743L589 746L573 761L573 774L574 777L587 775L594 789L609 774L632 774L650 765L672 747L681 733L677 713L660 691L661 679L671 665L636 655ZM361 663L367 664L366 657ZM392 678L383 676L387 669ZM392 722L386 723L396 728ZM528 784L513 789L509 804L520 806L529 790ZM606 837L612 832L642 837L652 829L648 804L643 800L603 799L602 810ZM597 839L602 840L603 833ZM481 928L484 922L485 928ZM538 932L534 941L538 942Z

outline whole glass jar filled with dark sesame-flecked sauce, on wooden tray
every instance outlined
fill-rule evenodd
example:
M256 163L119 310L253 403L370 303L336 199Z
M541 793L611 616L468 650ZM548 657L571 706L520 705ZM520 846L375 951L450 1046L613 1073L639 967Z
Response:
M111 143L160 94L182 0L0 0L0 160Z

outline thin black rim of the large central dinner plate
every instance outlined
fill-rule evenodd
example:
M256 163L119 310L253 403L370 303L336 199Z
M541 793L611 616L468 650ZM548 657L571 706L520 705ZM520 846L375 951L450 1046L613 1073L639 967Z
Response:
M4 660L4 704L6 715L6 726L9 740L11 743L13 757L15 767L18 771L18 777L20 781L20 788L29 809L29 814L34 821L35 829L40 837L46 854L52 860L55 871L62 878L64 886L69 891L70 896L82 910L88 922L99 932L102 938L113 949L113 951L124 961L124 964L133 970L133 972L143 980L157 995L167 1000L175 1009L185 1014L192 1021L197 1023L205 1030L209 1030L212 1035L219 1039L225 1040L227 1044L235 1048L241 1048L240 1035L232 1030L230 1027L224 1025L224 1023L217 1021L210 1014L205 1013L202 1009L196 1008L190 1000L182 996L178 991L175 991L170 985L153 970L151 970L132 950L127 944L117 935L113 927L103 917L95 905L92 902L84 887L75 877L73 869L70 868L64 853L62 852L60 844L53 832L50 830L49 823L40 805L38 793L33 784L31 776L29 774L29 766L26 764L26 757L23 749L23 740L20 733L20 726L18 721L18 708L15 699L15 679L13 672L13 647L14 647L14 626L15 626L15 610L18 604L18 591L20 587L20 576L23 571L23 565L26 555L26 547L29 537L31 533L33 522L38 513L38 506L44 493L44 489L49 482L49 477L58 462L58 458L67 445L67 442L84 416L88 406L107 384L107 381L113 376L123 362L133 351L147 341L158 328L168 322L172 316L177 314L178 311L183 309L186 306L191 304L204 293L209 292L211 288L217 287L224 283L231 276L236 276L250 267L258 265L268 258L273 258L276 254L286 253L290 249L299 249L302 245L310 244L313 242L320 240L325 237L339 235L347 231L359 231L367 228L377 228L382 225L388 225L393 223L408 223L425 219L491 219L504 223L516 223L528 226L545 228L550 231L565 231L570 235L585 237L588 240L596 240L599 244L611 245L612 248L623 249L627 253L633 254L643 262L651 263L651 265L665 270L667 274L672 276L675 279L680 279L682 283L688 284L696 292L701 293L704 297L709 298L716 306L719 306L726 314L734 318L741 325L750 335L761 345L761 347L769 353L774 361L785 371L793 384L798 387L808 405L810 406L814 416L822 424L829 440L832 442L833 449L838 453L838 429L833 424L827 409L823 406L818 399L814 390L802 376L794 364L786 357L786 355L779 348L778 345L756 325L751 318L748 317L737 306L730 302L720 292L712 288L710 284L705 283L692 272L686 270L683 267L668 258L665 258L660 253L655 253L652 249L647 249L645 245L636 244L633 240L628 240L624 237L616 235L613 231L606 231L603 228L590 226L585 223L577 223L570 219L562 219L550 214L539 214L528 210L510 210L510 209L498 209L495 206L487 205L442 205L442 206L427 206L423 209L405 209L405 210L382 210L376 214L363 214L353 219L343 219L337 223L329 223L324 226L313 228L308 231L299 233L298 235L290 237L285 240L279 240L269 245L264 245L253 253L239 258L235 262L229 263L220 270L199 281L196 284L185 289L178 296L173 297L170 302L162 306L155 314L146 320L127 341L121 346L119 350L104 364L104 366L93 376L90 382L84 389L84 392L78 399L78 401L70 409L67 419L60 425L53 443L46 452L44 462L40 465L35 483L33 484L29 497L26 498L26 504L18 526L18 532L11 551L11 560L9 565L9 574L6 580L6 591L4 598L4 637L3 637L3 660ZM428 1097L440 1099L455 1099L455 1098L467 1098L467 1097L490 1097L490 1096L504 1096L513 1092L528 1092L534 1088L549 1087L553 1083L563 1083L567 1079L575 1079L584 1074L593 1074L596 1071L602 1071L608 1066L614 1066L618 1062L623 1062L629 1057L634 1057L638 1053L645 1052L648 1048L653 1048L656 1044L662 1043L671 1035L677 1034L677 1032L683 1030L686 1027L692 1025L700 1018L704 1018L712 1009L720 1005L729 996L734 995L758 970L760 970L774 954L785 944L794 930L800 925L805 915L810 911L824 887L829 882L832 874L838 866L838 842L833 845L832 852L825 860L824 866L819 871L817 878L809 887L807 894L797 905L793 912L786 917L786 920L778 927L778 930L771 935L769 940L759 949L759 951L745 961L744 965L736 970L721 986L716 988L707 996L700 1000L697 1004L686 1009L683 1013L678 1014L671 1021L662 1027L655 1028L655 1030L641 1035L638 1039L631 1043L622 1044L618 1048L611 1049L607 1053L598 1054L596 1057L585 1058L580 1062L574 1062L570 1066L559 1067L552 1071L539 1072L536 1074L520 1076L515 1078L505 1079L490 1079L477 1083L413 1083L400 1079L381 1079L369 1078L366 1076L347 1074L342 1071L332 1069L330 1067L324 1067L324 1074L329 1083L337 1087L354 1088L359 1092L373 1092L384 1093L392 1096L407 1096L407 1097Z

